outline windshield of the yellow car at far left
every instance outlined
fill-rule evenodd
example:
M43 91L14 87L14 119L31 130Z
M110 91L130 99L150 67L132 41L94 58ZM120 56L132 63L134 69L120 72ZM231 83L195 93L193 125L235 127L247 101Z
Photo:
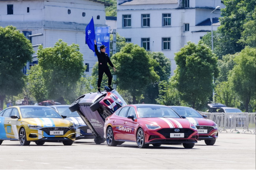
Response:
M20 108L22 118L37 118L37 117L52 117L52 118L62 118L52 108L39 108L39 107L29 107Z

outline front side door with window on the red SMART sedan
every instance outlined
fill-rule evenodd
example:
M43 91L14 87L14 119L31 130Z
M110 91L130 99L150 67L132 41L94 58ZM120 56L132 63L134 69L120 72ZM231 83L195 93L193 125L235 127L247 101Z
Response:
M133 115L135 119L128 119L127 116ZM124 131L124 137L125 139L129 141L136 141L136 126L138 125L138 122L136 120L136 112L135 108L130 106L129 110L125 116L125 119L123 121L123 126L126 128Z

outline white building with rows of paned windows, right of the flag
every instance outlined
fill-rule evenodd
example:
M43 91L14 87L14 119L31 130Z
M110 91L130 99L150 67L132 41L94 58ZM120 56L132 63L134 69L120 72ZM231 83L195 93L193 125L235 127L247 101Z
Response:
M161 51L176 64L174 53L187 41L197 43L211 31L210 13L224 7L221 0L118 0L117 32L148 51ZM213 30L220 25L213 13Z

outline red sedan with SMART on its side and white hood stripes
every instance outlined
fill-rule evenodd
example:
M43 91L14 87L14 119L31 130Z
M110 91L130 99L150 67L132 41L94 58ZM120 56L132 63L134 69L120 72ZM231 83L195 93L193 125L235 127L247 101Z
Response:
M198 130L184 118L168 106L127 105L106 118L104 137L108 146L136 142L139 148L147 148L149 144L183 144L184 148L193 148Z

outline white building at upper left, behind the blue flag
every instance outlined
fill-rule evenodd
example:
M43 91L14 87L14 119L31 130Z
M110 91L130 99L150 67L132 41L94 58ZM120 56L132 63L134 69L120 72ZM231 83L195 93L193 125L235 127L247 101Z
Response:
M109 5L98 0L0 0L0 26L15 26L25 35L43 33L30 38L34 63L39 44L53 47L59 39L79 44L84 64L89 66L86 73L91 75L97 57L85 42L85 28L92 16L95 27L107 26L105 6Z

